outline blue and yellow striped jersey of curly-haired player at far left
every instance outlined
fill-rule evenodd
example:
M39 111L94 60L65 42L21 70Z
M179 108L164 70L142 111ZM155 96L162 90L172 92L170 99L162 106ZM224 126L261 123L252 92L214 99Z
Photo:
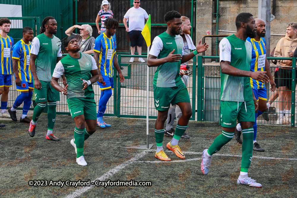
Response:
M13 47L13 38L7 36L3 38L0 36L0 46L1 46L1 71L0 74L7 75L12 74L12 61L11 61L11 52Z

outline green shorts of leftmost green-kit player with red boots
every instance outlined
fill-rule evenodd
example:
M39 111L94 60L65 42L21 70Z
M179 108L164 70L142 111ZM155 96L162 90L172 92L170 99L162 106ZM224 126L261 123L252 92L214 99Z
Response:
M40 90L34 88L35 102L60 101L60 92L53 88L50 82L40 80L40 83Z

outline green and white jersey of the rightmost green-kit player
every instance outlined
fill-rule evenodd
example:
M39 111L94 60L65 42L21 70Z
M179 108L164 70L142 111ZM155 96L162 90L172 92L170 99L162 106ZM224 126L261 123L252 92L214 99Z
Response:
M234 34L225 37L219 44L220 62L229 61L237 69L250 71L252 44L237 38ZM239 77L221 72L221 100L246 102L253 99L250 77Z

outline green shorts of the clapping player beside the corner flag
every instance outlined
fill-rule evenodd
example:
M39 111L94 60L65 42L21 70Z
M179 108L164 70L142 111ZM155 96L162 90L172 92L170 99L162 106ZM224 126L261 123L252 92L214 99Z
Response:
M157 87L154 85L154 103L156 110L166 111L178 102L190 102L189 92L184 84L175 87Z

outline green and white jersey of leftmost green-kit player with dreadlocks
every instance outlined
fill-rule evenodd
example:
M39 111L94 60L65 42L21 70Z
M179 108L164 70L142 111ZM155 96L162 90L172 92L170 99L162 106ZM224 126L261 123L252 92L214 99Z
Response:
M57 57L61 57L60 39L39 34L32 41L30 53L37 55L35 65L39 80L50 82L57 63Z

